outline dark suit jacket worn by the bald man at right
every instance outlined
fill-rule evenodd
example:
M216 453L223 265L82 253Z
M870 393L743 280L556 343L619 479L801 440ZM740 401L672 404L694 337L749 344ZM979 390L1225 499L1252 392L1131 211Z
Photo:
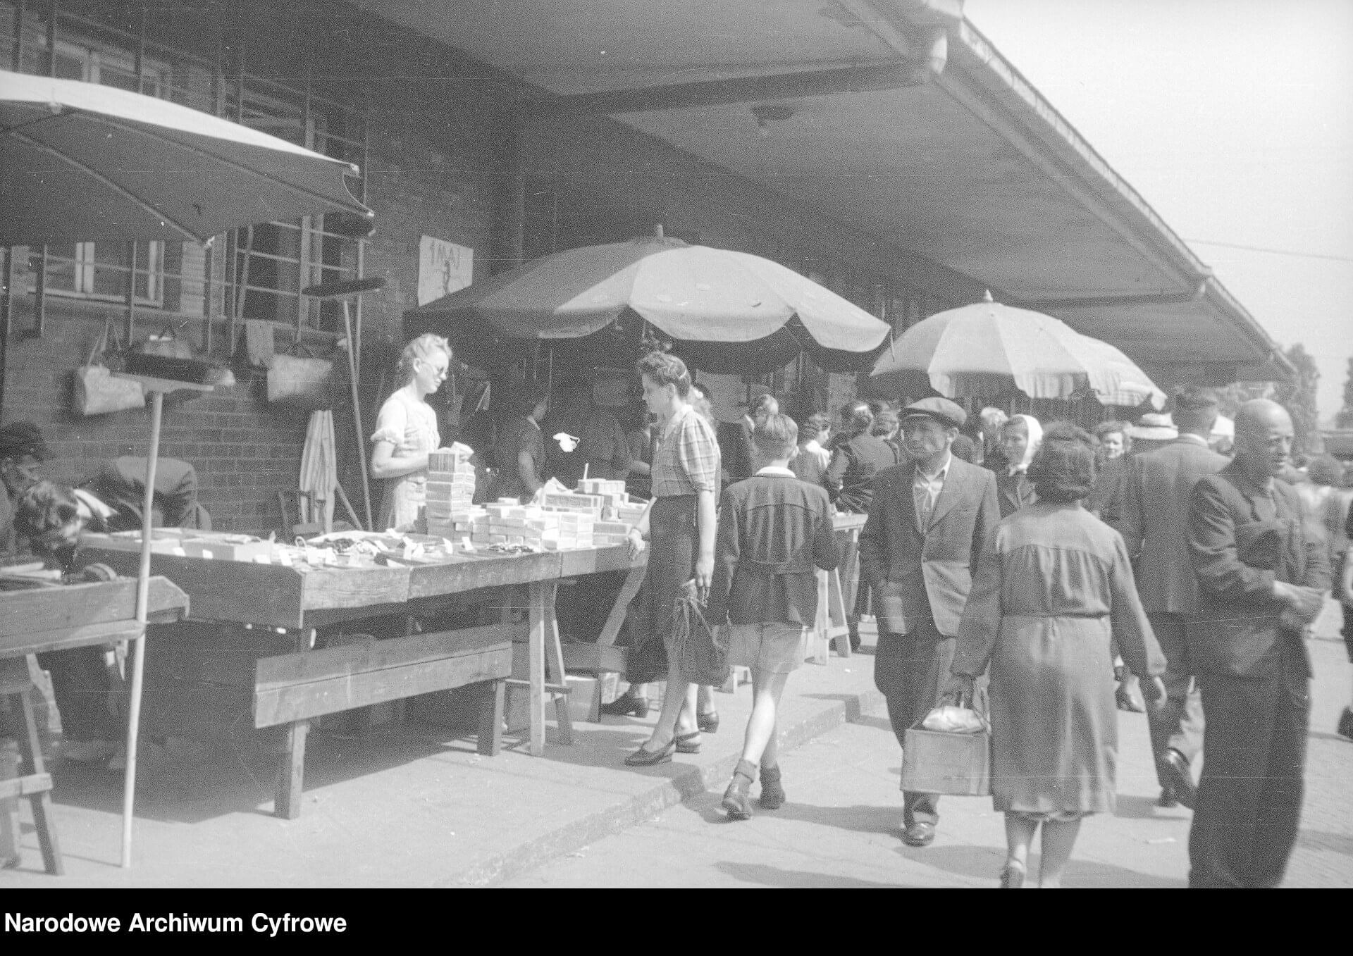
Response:
M1273 481L1272 502L1270 519L1268 498L1234 462L1193 485L1188 548L1199 606L1187 638L1200 673L1277 676L1284 644L1311 673L1302 629L1283 619L1273 581L1327 591L1329 556L1291 485Z

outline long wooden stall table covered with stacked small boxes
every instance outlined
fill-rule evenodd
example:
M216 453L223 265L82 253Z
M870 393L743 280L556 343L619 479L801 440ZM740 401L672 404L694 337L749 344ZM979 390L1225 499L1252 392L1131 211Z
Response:
M87 542L84 560L123 569L135 554ZM643 558L640 558L641 577ZM571 742L564 661L555 619L560 579L632 568L624 546L534 554L457 554L413 567L294 568L154 554L157 575L192 599L192 619L285 630L292 653L262 657L254 669L254 726L287 725L287 748L275 800L279 817L300 813L310 718L451 687L479 684L479 750L495 755L502 740L505 680L529 688L529 749L544 753L545 706L556 702L561 742ZM526 590L525 621L514 621L503 588ZM637 587L637 585L636 585ZM388 614L501 595L501 621L482 627L315 649L315 629ZM628 603L628 600L626 600ZM614 617L614 615L613 615ZM620 611L624 619L624 611ZM617 625L618 630L618 625ZM525 675L513 675L514 642L529 648ZM547 682L547 672L549 682ZM563 690L560 690L563 688Z

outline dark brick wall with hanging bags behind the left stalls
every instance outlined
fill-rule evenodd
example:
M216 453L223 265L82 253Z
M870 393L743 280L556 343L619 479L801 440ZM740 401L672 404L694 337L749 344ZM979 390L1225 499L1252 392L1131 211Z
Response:
M189 11L196 19L185 15L184 4L152 11L150 30L180 49L211 57L214 11L222 8L208 3L196 5L200 9ZM478 74L467 70L444 47L372 22L350 8L254 3L241 4L237 14L252 28L246 57L250 73L295 84L295 51L306 49L318 65L317 92L346 100L371 118L367 201L376 211L376 233L367 249L365 272L383 276L387 287L363 300L365 434L360 441L365 441L373 430L376 408L395 385L390 373L402 346L402 312L417 304L419 237L433 235L472 247L476 277L488 274L492 223L488 133L497 88L486 93L476 85L484 73L482 68ZM185 27L189 22L196 24L193 30ZM76 481L110 457L145 454L149 410L95 418L80 418L69 410L74 369L84 362L106 319L122 329L122 307L49 296L42 338L24 337L23 330L32 327L32 276L26 268L26 250L15 252L22 266L0 419L27 419L42 427L54 456L45 472L57 480ZM216 297L219 310L219 284ZM176 322L183 319L176 316ZM218 311L212 339L212 356L218 358L229 352L225 327ZM158 331L156 310L138 308L137 331L141 338ZM204 342L203 322L192 319L183 334L195 343ZM287 341L284 335L279 338ZM319 354L331 348L331 335L315 338ZM342 361L341 354L337 357ZM218 529L267 533L280 526L276 492L296 487L307 416L269 406L261 371L249 373L237 366L235 375L238 384L231 389L166 399L161 454L184 458L198 468L200 500ZM334 430L340 477L360 514L357 437L346 400L334 410ZM372 508L379 504L380 488L373 485Z

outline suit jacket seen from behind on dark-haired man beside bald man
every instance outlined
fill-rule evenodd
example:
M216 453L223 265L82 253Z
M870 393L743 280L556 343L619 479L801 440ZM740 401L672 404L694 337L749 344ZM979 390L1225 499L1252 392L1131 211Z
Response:
M1147 614L1196 614L1197 581L1188 557L1188 502L1199 479L1227 460L1207 445L1176 438L1127 460L1118 530L1134 558Z

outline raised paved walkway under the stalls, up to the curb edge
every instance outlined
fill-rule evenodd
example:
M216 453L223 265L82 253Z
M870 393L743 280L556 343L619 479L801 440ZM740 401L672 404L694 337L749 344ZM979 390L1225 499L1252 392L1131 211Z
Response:
M805 664L785 700L787 745L856 717L874 695L873 657ZM271 815L276 763L262 748L145 746L130 871L118 867L120 775L57 764L66 876L41 871L26 800L23 865L0 871L0 888L487 884L723 780L737 761L751 688L714 698L723 726L705 734L704 752L649 768L625 767L624 757L647 740L656 710L645 721L575 725L574 746L559 745L551 725L544 757L514 740L482 757L474 738L413 723L364 740L313 730L304 809L294 821ZM249 726L248 713L237 718L233 726Z

